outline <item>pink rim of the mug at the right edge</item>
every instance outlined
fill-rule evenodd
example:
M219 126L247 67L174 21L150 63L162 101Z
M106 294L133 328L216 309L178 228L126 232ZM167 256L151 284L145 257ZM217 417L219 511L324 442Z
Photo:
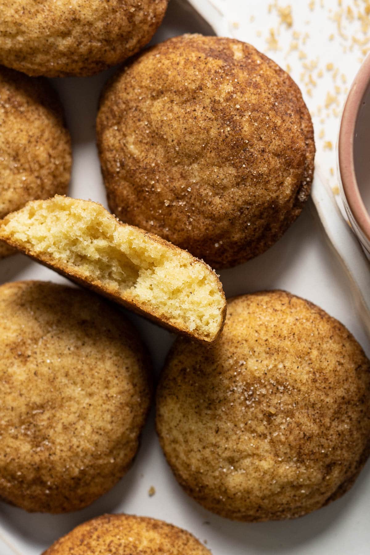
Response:
M370 214L359 192L354 170L353 141L362 99L370 84L370 54L365 58L349 89L338 136L338 167L349 209L362 233L370 241Z

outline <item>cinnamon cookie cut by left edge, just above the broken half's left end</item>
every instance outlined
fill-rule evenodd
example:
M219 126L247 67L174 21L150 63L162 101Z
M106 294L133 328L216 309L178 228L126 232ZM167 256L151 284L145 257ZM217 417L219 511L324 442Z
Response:
M0 219L28 200L67 193L70 137L46 79L0 67L0 130ZM0 258L6 254L0 244Z

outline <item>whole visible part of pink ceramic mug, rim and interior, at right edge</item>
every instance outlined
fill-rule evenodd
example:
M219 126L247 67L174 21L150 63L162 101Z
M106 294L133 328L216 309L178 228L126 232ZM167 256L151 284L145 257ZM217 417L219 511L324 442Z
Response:
M344 104L337 154L344 208L370 258L370 55L359 69Z

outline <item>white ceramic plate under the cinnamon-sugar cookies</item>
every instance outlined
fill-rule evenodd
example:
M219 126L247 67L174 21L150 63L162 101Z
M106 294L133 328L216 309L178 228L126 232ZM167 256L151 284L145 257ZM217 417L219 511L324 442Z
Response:
M199 3L204 4L205 0ZM238 3L239 0L233 2L234 6ZM212 9L214 11L208 15L216 27L220 14L216 8ZM211 29L185 3L172 0L154 42L184 32L210 34ZM226 33L225 27L223 34ZM100 90L111 73L110 70L91 78L54 80L73 137L70 195L92 198L105 205L94 120ZM0 283L20 279L65 281L22 255L0 261ZM353 303L350 281L308 207L267 253L247 264L222 271L221 280L227 296L282 288L310 299L341 320L370 355L370 342ZM159 373L173 336L139 316L127 314L143 332ZM153 497L148 495L150 486L156 490ZM143 514L172 522L188 529L201 541L206 539L214 555L367 555L370 464L347 495L306 517L261 524L230 522L202 509L178 486L160 451L152 412L129 473L87 509L64 515L28 514L0 503L0 555L39 555L78 523L104 512Z

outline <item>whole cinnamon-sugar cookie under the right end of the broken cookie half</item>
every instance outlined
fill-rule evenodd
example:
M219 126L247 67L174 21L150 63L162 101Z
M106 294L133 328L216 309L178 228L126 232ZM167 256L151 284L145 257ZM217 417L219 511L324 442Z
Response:
M204 349L175 342L156 426L184 490L240 521L295 518L345 493L370 450L370 363L337 320L284 291L228 302Z

